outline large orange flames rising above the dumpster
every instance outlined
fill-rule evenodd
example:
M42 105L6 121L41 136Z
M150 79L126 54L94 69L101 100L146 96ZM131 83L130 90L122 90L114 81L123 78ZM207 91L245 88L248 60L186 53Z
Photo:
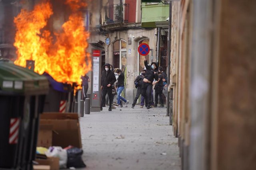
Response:
M80 77L90 71L90 54L86 52L89 33L85 31L80 8L86 4L81 0L66 0L71 14L62 25L62 32L54 33L42 29L53 14L49 1L38 4L29 12L22 9L14 18L17 31L14 46L17 48L17 65L26 66L26 60L35 61L35 72L47 72L56 81L81 84Z

